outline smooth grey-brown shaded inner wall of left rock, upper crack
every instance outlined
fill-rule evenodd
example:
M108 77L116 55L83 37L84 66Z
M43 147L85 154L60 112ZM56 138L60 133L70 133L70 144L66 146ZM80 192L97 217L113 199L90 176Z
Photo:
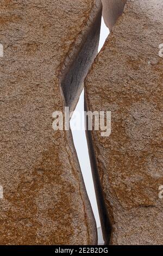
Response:
M98 51L99 33L101 28L102 9L98 11L95 20L88 26L87 33L82 35L82 42L65 67L61 79L61 88L66 106L73 111L84 87L84 78L90 69Z

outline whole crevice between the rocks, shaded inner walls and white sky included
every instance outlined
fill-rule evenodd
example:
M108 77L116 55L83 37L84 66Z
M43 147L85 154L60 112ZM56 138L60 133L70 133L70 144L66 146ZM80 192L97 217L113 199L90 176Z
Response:
M103 17L105 24L109 29L112 29L117 19L123 13L123 8L126 2L127 0L102 0ZM78 119L80 114L84 114L84 109L87 111L84 92L80 95L80 92L83 89L84 77L96 57L97 50L99 51L101 49L105 42L105 38L109 34L109 29L105 27L102 19L102 4L101 1L97 1L97 5L92 9L90 14L91 19L88 20L89 23L86 24L86 30L84 34L82 33L78 36L72 50L65 59L59 78L61 94L65 101L65 105L70 107L70 111L73 111L77 105L76 111L74 111L70 120L70 125L71 127L75 127L75 129L72 129L73 141L77 151L80 169L82 170L87 195L89 196L92 210L96 218L99 235L98 243L103 244L105 241L105 245L109 245L112 235L112 226L99 178L96 156L92 144L92 135L91 131L88 130L85 135L85 129L81 129L79 124L81 117ZM101 38L98 49L100 29ZM79 112L79 115L76 115L77 111ZM84 125L84 122L82 123ZM78 129L78 127L80 127L80 129Z

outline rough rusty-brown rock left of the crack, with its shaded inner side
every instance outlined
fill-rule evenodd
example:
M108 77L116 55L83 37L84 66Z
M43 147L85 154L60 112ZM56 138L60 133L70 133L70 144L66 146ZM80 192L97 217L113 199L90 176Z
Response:
M0 9L0 244L96 244L71 132L54 131L52 113L76 105L97 52L101 3L2 0Z

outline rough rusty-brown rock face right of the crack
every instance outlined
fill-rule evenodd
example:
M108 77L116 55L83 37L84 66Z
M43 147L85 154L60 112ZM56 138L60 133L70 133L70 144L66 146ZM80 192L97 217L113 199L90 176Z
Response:
M163 243L162 9L162 0L127 1L85 81L86 108L111 111L111 135L87 136L113 245ZM109 16L106 23L112 23ZM101 188L96 189L98 194ZM107 241L104 224L103 231Z

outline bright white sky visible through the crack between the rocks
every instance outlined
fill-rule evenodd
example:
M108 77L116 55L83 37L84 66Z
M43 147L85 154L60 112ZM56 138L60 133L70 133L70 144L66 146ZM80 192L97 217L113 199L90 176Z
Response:
M101 48L104 45L104 42L106 38L109 35L109 29L106 27L104 20L102 18L101 22L101 33L100 33L100 39L99 39L99 47L98 52L101 50ZM78 130L77 124L76 124L76 117L77 114L80 114L82 116L82 129ZM97 224L97 231L98 231L98 245L103 245L103 235L102 235L102 229L101 229L101 221L99 218L99 212L98 212L98 206L97 206L97 200L96 200L96 194L95 194L95 187L93 185L93 178L92 178L92 172L91 172L91 164L90 164L90 157L89 157L89 151L87 147L87 139L86 134L84 130L84 89L82 93L80 94L78 104L76 106L76 109L74 110L74 113L72 115L72 118L70 120L70 125L72 129L72 136L73 136L73 142L74 147L76 148L78 160L80 163L80 168L82 170L83 179L87 191L87 195L90 199L90 203L92 206L93 214L95 216L96 224Z

